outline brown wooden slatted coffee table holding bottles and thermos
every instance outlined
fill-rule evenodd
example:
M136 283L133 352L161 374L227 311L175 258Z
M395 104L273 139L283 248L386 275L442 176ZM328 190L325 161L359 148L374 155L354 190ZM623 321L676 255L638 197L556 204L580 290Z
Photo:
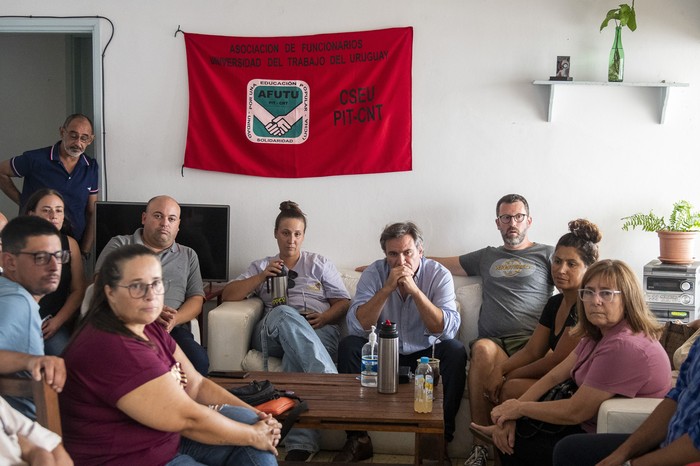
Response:
M433 412L419 414L413 411L412 384L399 384L398 393L381 394L376 388L362 387L355 374L251 372L245 379L212 378L224 388L266 379L276 388L293 390L306 400L309 410L301 415L295 427L413 432L416 434L414 464L421 464L427 457L442 465L445 422L440 385L436 387Z

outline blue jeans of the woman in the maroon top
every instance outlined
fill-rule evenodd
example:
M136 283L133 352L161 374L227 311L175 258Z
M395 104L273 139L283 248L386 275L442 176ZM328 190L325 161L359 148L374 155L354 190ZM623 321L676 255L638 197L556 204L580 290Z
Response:
M244 424L255 424L258 415L248 408L240 406L224 406L221 414L229 419ZM238 465L269 465L277 464L277 458L269 451L261 451L253 447L233 445L206 445L182 437L179 453L166 466L238 466Z

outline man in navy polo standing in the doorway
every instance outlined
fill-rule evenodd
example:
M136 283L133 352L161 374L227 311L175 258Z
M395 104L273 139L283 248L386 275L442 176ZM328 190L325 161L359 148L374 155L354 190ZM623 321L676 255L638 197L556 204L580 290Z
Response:
M68 116L59 128L61 139L53 146L30 150L0 162L0 189L20 207L41 188L52 188L65 199L71 236L88 256L95 237L97 161L83 152L95 139L92 121L82 114ZM11 178L24 178L22 192Z

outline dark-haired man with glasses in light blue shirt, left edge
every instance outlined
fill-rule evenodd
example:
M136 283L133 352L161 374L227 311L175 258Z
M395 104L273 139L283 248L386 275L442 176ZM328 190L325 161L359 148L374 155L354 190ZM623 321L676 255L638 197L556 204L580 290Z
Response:
M21 367L36 367L38 364L51 378L58 367L59 380L54 389L60 391L65 380L65 368L58 358L44 357L44 338L41 333L38 303L44 295L56 291L61 280L61 267L70 262L70 251L61 250L58 230L51 223L40 217L25 216L12 219L2 230L2 247L2 366L19 370ZM33 372L36 376L38 369ZM28 373L20 375L29 376ZM32 419L36 417L31 400L8 397L8 402L25 416Z

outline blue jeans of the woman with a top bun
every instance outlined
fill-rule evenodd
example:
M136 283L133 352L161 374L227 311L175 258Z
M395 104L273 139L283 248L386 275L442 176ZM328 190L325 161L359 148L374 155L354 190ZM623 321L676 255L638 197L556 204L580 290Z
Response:
M263 317L253 331L252 346L263 355L282 358L285 372L337 374L329 351L337 352L340 332L336 325L314 330L299 311L277 306ZM289 450L316 452L321 434L311 429L292 429L284 444Z

